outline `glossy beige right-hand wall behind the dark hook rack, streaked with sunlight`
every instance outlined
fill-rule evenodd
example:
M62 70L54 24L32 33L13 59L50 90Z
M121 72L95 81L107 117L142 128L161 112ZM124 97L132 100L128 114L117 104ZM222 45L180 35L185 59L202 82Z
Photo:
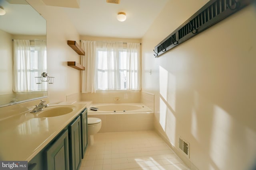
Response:
M256 160L256 5L153 55L207 1L166 4L142 38L142 91L155 94L155 127L192 169L248 170Z

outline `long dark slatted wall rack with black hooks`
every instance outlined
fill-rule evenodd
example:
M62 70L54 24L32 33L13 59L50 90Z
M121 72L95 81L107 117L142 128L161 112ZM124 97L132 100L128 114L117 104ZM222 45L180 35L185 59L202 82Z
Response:
M252 3L253 0L210 0L154 48L159 57L184 41Z

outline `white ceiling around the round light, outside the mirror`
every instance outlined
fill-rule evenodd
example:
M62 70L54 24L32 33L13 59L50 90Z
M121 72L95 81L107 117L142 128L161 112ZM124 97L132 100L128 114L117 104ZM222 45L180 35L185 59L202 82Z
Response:
M80 8L61 7L80 35L97 37L142 38L168 0L80 0ZM125 12L127 19L116 19Z

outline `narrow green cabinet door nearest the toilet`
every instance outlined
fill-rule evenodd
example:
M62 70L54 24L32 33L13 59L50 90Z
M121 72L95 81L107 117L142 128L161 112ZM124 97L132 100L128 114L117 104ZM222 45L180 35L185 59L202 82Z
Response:
M87 109L85 109L81 113L81 136L82 136L82 159L84 158L84 154L87 148Z

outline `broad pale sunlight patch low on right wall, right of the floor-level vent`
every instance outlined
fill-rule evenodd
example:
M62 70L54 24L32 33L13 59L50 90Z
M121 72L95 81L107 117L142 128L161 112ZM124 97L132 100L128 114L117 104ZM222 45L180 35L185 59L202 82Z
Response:
M231 117L218 106L213 108L210 156L218 169L226 169L230 155Z

